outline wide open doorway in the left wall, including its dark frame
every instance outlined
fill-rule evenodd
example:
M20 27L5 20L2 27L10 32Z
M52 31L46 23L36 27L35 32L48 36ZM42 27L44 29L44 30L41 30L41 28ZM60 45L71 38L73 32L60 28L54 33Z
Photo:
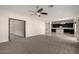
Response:
M11 35L26 37L26 22L24 20L9 18L9 40Z

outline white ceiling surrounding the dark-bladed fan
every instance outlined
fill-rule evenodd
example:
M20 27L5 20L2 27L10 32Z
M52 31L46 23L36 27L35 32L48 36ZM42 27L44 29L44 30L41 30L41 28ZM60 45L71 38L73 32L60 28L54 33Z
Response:
M32 14L29 10L37 10L36 5L5 5L2 7L25 14L26 16ZM79 5L54 5L54 7L51 8L49 8L48 5L40 5L40 8L44 8L44 11L47 12L48 15L42 15L41 17L33 15L30 17L46 22L79 17Z

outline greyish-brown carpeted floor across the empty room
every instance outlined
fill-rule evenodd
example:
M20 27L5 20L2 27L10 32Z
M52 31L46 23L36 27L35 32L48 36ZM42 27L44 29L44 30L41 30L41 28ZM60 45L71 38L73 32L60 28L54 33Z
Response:
M9 42L0 43L0 53L78 54L79 42L56 35L37 35L29 38L11 35Z

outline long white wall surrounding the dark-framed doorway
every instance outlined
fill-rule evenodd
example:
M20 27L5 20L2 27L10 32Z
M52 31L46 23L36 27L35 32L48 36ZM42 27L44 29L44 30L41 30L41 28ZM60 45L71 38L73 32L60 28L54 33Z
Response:
M26 21L26 37L44 34L44 22L28 17L7 8L0 7L0 42L8 41L8 18L15 18Z

